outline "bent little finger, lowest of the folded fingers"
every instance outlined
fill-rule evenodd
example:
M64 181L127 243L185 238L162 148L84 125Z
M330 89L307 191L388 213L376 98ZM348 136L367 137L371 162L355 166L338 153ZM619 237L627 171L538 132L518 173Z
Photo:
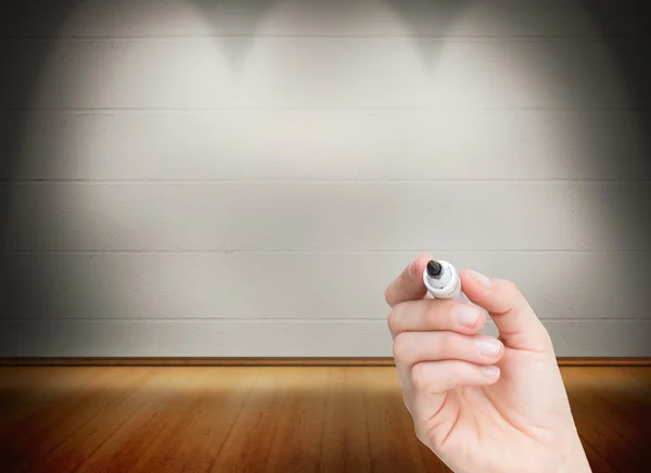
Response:
M488 386L499 380L496 366L477 366L468 361L444 360L424 361L411 370L410 411L417 425L427 425L427 430L441 427L449 432L455 417L446 418L442 410L447 392L457 386ZM437 419L434 419L438 416Z

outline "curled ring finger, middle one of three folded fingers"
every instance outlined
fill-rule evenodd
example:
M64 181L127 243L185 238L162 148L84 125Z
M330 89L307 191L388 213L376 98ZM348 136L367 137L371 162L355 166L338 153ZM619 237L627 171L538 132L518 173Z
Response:
M462 360L494 365L503 356L503 345L487 335L457 332L401 332L393 344L396 366L409 373L418 363L436 360Z

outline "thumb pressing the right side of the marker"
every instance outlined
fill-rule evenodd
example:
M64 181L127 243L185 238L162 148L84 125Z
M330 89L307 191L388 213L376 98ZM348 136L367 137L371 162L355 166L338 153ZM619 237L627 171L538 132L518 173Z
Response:
M553 353L547 329L513 282L489 279L472 270L461 271L460 277L463 292L488 311L505 346Z

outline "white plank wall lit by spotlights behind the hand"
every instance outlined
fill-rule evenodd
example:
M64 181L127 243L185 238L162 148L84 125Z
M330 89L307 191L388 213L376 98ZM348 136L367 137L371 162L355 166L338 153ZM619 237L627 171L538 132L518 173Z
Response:
M383 292L421 251L514 280L559 356L651 356L651 148L600 36L636 24L31 3L0 39L0 356L391 356Z

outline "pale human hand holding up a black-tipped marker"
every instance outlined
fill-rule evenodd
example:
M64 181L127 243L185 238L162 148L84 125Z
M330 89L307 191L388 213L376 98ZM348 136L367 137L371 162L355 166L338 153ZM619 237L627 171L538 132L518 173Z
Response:
M431 259L422 254L385 292L418 438L455 472L590 472L551 340L518 287L464 270L475 305L424 298ZM486 311L499 338L478 333Z

